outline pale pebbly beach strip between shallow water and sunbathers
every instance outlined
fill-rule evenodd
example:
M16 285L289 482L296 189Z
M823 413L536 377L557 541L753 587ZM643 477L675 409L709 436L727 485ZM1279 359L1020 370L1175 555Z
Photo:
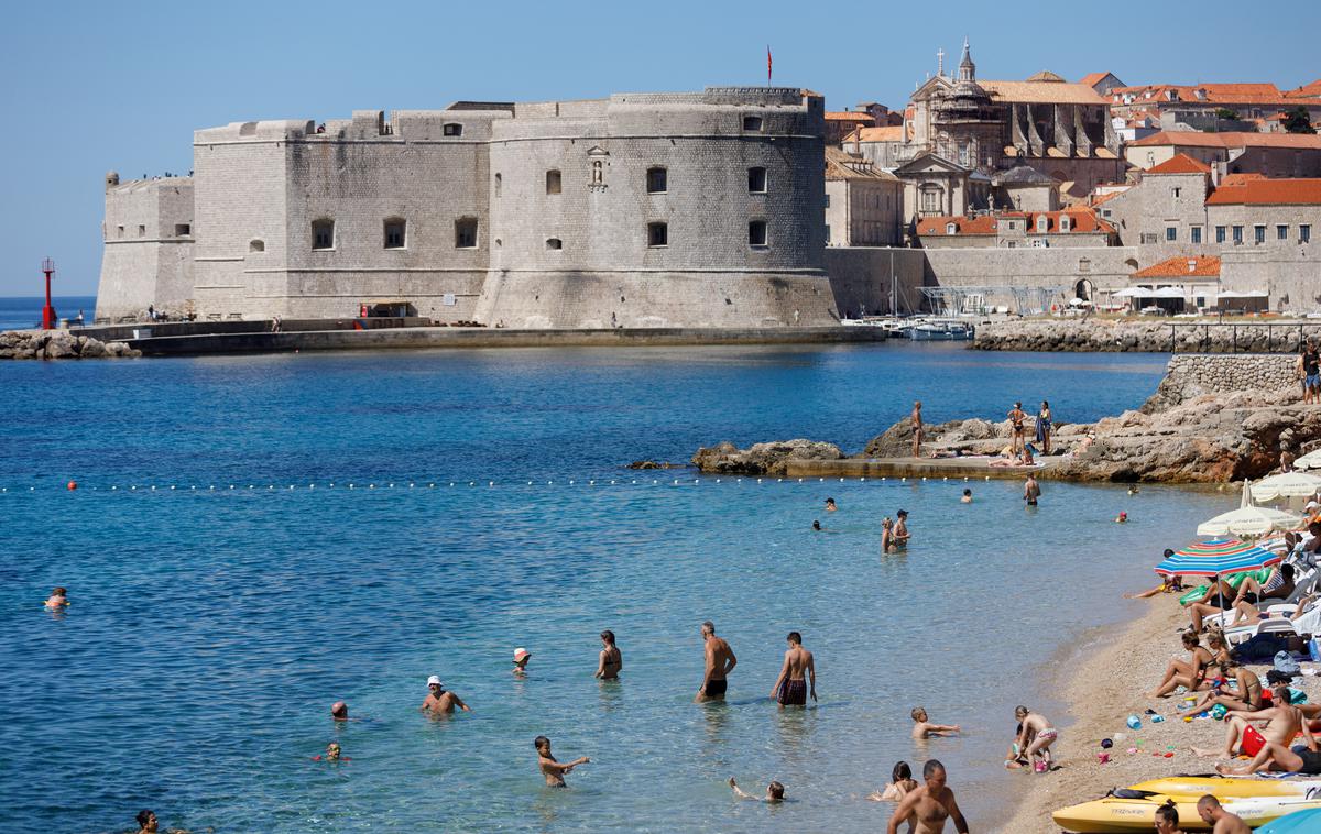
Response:
M1004 831L1015 834L1057 834L1050 814L1059 808L1100 798L1112 788L1122 788L1162 776L1211 773L1219 759L1199 759L1190 747L1218 748L1225 742L1225 724L1211 719L1184 722L1178 711L1180 697L1149 698L1172 657L1186 653L1180 645L1178 628L1188 624L1188 615L1174 595L1139 600L1145 614L1111 628L1087 632L1073 649L1059 656L1059 673L1046 678L1048 691L1054 691L1067 705L1062 717L1050 715L1061 727L1054 744L1058 769L1049 775L1017 771L1025 783L1022 800L1005 823ZM1203 641L1205 643L1205 641ZM1304 662L1308 669L1312 664ZM1266 684L1268 666L1248 666ZM1321 697L1318 678L1301 677L1296 689L1308 693L1312 703ZM1028 705L1032 706L1032 705ZM1145 711L1156 710L1162 723L1151 723ZM1129 730L1128 715L1141 715L1143 727ZM1120 739L1119 736L1123 736ZM1114 739L1111 760L1100 764L1100 740ZM1008 734L1007 734L1008 739ZM1140 743L1140 751L1127 752ZM1166 757L1165 754L1173 754ZM1026 785L1030 783L1030 786Z

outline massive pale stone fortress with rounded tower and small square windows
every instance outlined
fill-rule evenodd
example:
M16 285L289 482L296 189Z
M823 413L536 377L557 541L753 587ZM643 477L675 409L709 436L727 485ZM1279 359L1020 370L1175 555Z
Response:
M787 87L248 121L106 178L96 318L836 321L824 106Z

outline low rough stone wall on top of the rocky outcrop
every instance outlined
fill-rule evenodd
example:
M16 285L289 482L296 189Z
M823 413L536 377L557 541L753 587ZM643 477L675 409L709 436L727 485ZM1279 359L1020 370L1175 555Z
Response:
M1210 393L1285 391L1299 384L1297 358L1288 354L1172 356L1156 393L1143 405L1153 413Z

